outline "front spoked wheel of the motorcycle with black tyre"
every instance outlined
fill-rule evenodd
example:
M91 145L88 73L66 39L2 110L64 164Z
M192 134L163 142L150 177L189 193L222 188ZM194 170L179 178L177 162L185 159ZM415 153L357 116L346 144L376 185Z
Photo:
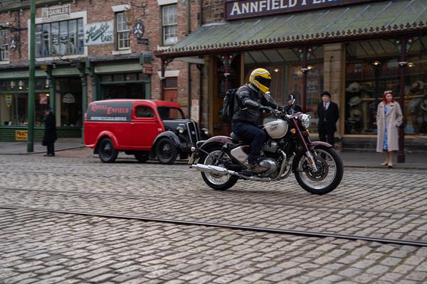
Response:
M297 161L295 178L302 188L314 195L325 195L334 190L342 180L342 160L334 148L315 148L312 151L317 172L310 168L305 155Z

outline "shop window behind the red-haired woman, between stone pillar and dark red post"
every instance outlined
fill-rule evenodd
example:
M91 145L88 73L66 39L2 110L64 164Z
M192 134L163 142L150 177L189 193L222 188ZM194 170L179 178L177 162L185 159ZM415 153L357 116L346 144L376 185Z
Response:
M346 48L346 134L375 134L376 109L385 91L399 101L399 53L389 40L349 43Z

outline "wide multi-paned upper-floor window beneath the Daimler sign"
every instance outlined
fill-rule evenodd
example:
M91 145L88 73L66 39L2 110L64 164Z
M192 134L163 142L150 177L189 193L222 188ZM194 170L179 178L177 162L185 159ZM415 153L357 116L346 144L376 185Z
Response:
M83 19L36 25L36 57L84 53Z

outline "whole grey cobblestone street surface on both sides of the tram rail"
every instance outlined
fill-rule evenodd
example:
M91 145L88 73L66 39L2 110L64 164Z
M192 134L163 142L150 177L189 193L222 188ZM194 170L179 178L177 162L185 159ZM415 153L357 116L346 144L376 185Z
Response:
M184 162L88 149L0 155L0 207L427 241L425 171L346 168L328 195L292 176L211 190ZM427 247L0 209L0 283L425 283Z

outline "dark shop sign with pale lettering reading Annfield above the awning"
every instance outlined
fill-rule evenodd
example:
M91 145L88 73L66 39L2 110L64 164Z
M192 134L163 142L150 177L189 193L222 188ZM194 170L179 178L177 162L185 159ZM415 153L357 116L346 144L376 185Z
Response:
M226 1L226 20L265 16L367 2L372 0L230 0Z

